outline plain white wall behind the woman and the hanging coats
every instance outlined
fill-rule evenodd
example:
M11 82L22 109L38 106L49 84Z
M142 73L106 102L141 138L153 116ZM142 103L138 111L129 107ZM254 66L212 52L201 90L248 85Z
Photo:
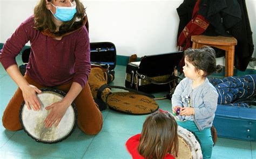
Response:
M176 51L179 18L176 8L183 0L82 1L87 7L91 42L110 41L118 55L138 56ZM37 0L0 0L0 42L32 15ZM247 0L247 11L256 44L256 1ZM255 51L254 51L255 53ZM217 60L224 65L224 59Z

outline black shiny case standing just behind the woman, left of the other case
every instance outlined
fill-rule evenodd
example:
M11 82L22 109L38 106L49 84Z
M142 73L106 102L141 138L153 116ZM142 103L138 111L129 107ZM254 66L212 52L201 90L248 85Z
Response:
M112 42L91 42L91 64L92 67L105 68L107 73L114 75L116 67L117 52Z

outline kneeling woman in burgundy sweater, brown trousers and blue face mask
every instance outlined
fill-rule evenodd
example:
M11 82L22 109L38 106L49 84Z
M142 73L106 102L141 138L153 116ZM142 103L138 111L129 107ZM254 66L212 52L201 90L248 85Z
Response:
M23 101L29 109L41 108L36 93L44 87L63 90L60 102L47 106L51 110L45 127L58 125L74 101L78 126L86 134L102 129L102 113L93 102L87 79L90 73L90 42L87 17L79 0L40 0L34 15L26 19L3 46L1 62L18 85L3 115L3 126L10 131L22 129L19 109ZM23 77L15 57L30 41L31 54Z

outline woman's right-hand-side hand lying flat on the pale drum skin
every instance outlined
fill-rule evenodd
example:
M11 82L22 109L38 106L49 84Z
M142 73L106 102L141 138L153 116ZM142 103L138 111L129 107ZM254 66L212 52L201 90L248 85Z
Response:
M48 114L46 119L44 120L44 126L45 127L51 127L53 124L57 127L60 120L62 120L62 117L66 113L66 110L68 109L69 105L63 103L63 100L60 102L53 103L49 106L46 106L46 110L51 110L51 112Z

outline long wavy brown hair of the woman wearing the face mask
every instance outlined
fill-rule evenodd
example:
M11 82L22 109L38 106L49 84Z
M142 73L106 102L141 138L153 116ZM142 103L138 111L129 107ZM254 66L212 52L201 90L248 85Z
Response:
M53 0L48 0L48 2L52 1ZM45 0L40 0L34 9L35 28L39 31L49 29L49 31L55 34L57 37L67 32L77 30L77 28L83 25L83 20L76 21L76 18L84 18L85 8L79 0L75 1L77 10L75 16L72 18L72 20L63 22L63 24L59 27L59 31L56 32L56 26L52 20L52 13L46 8Z

